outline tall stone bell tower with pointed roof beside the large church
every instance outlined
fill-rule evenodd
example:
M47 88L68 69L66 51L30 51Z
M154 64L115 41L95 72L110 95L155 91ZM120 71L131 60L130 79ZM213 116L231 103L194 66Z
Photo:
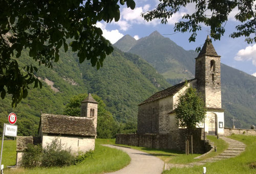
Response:
M205 106L221 108L221 56L212 46L207 36L201 52L196 58L196 73L198 92L202 94Z

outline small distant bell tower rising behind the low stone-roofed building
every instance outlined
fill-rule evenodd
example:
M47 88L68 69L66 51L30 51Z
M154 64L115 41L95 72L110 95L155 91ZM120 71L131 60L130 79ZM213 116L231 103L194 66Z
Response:
M81 117L94 119L94 127L97 128L98 102L89 93L88 97L81 102Z

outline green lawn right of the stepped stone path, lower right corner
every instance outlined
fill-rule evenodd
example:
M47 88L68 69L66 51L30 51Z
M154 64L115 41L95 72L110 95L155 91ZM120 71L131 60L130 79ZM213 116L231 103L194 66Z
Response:
M238 157L221 160L215 163L195 166L193 168L172 168L163 173L202 173L203 166L206 167L207 174L241 174L256 173L256 169L251 169L249 165L256 162L256 137L244 135L232 135L230 138L236 139L246 144L246 150Z

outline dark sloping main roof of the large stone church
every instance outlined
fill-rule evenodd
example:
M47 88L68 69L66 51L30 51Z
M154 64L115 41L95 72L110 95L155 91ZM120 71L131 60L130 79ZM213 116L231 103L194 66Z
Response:
M193 80L196 80L196 79L194 78L194 79L191 79L191 80L187 80L187 82L190 82L190 81L193 81ZM142 103L140 103L138 105L140 106L140 105L143 105L143 104L146 104L146 103L149 103L149 102L152 102L152 101L155 101L155 100L158 100L160 98L167 97L167 96L173 96L178 91L180 91L184 87L184 85L185 85L185 81L182 82L182 83L176 84L174 86L170 86L169 88L167 88L163 91L159 91L159 92L155 93L150 98L146 99L145 101L143 101Z

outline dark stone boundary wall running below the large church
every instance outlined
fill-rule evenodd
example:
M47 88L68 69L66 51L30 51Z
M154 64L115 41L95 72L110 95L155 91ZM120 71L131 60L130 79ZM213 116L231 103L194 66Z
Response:
M173 130L170 134L117 134L116 144L185 151L185 135L186 129ZM210 149L208 143L204 148L203 135L202 128L193 132L193 153L204 153Z

